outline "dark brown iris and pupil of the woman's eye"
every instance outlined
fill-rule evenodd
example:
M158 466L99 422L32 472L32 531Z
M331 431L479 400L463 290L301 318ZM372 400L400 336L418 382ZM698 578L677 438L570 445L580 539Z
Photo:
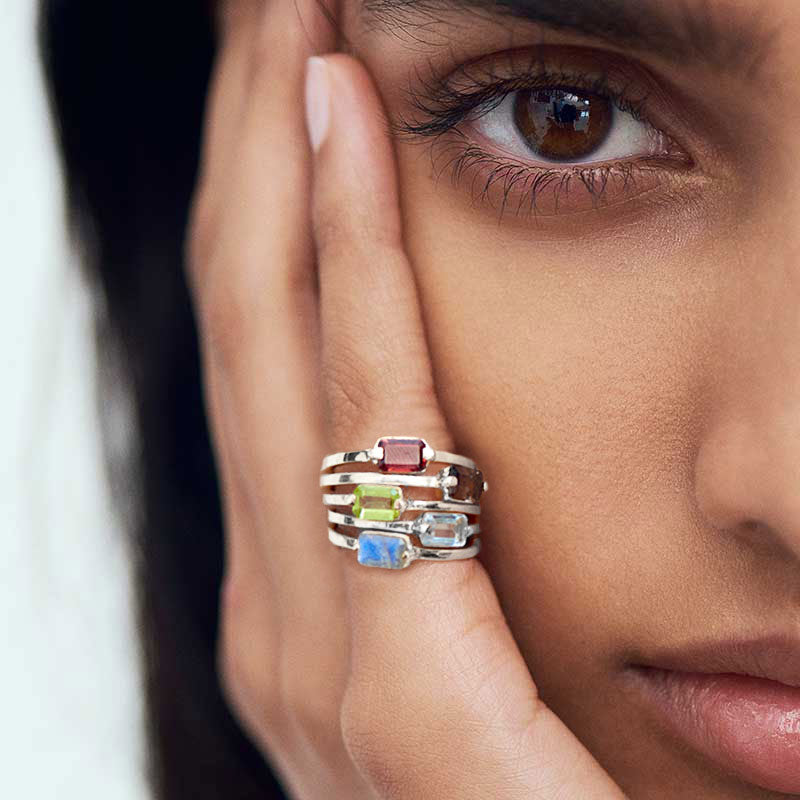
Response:
M613 118L612 102L594 94L526 89L514 100L514 122L526 144L553 161L591 155L608 137Z

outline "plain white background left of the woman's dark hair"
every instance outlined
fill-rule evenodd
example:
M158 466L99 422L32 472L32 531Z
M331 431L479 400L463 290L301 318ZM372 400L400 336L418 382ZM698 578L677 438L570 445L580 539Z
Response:
M0 0L0 797L139 799L129 561L34 14L33 0Z

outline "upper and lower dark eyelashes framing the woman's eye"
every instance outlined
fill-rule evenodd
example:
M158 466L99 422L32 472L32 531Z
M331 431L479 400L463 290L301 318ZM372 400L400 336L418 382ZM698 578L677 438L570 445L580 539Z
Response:
M469 66L469 65L468 65ZM475 65L472 65L475 66ZM653 127L648 120L647 108L649 93L640 97L631 97L630 84L618 88L613 85L610 75L600 71L594 76L579 72L548 70L541 66L534 55L530 64L501 76L489 67L481 66L481 76L474 77L461 68L459 72L466 77L466 88L460 88L448 78L438 77L431 69L429 77L417 76L418 87L407 90L410 105L421 115L420 119L408 119L400 115L397 121L390 123L393 134L412 143L432 139L433 145L445 137L447 133L455 133L462 140L455 145L457 155L447 160L444 169L450 167L452 180L457 184L470 169L486 171L486 179L480 192L480 199L485 200L491 187L503 180L503 202L500 216L506 209L512 189L520 182L520 200L517 214L523 204L530 213L536 212L536 200L539 193L552 186L556 205L562 192L569 192L572 181L578 179L592 197L594 207L602 199L609 180L622 181L623 192L636 186L637 177L643 172L663 170L665 161L691 165L691 159L683 153L649 154L629 158L625 162L600 166L568 166L568 167L536 167L519 161L512 161L486 152L478 144L469 139L458 126L463 122L477 119L499 105L511 92L536 88L558 88L572 90L576 94L595 94L610 100L620 111L627 112L634 119ZM671 146L674 141L665 134ZM452 145L451 145L452 146ZM477 172L480 174L480 172ZM475 179L472 186L474 190ZM526 203L527 201L527 203Z

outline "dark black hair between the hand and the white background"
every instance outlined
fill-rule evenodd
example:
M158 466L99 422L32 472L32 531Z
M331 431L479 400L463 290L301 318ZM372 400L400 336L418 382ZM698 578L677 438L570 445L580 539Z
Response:
M206 5L42 0L39 34L98 301L100 409L112 390L132 401L136 447L123 464L107 455L132 537L150 783L161 800L266 800L283 795L216 672L223 529L183 269L215 47Z

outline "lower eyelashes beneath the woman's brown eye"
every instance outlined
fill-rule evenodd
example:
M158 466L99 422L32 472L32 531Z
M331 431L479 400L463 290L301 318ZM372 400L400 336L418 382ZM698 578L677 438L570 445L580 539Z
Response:
M460 135L463 137L463 134ZM636 188L637 178L643 173L663 170L666 160L676 160L675 156L651 155L599 166L548 168L531 167L521 162L493 156L471 142L467 144L453 143L446 147L455 148L458 152L438 169L437 157L432 156L435 179L437 181L441 179L444 172L449 169L451 182L456 186L464 179L465 175L472 171L474 174L470 191L473 202L476 200L487 201L492 187L502 181L503 200L498 223L502 221L512 192L519 193L515 215L519 216L523 212L524 206L529 219L538 213L537 198L540 193L552 188L555 209L558 213L559 198L562 193L569 194L570 186L577 181L591 196L592 207L597 209L602 205L610 182L618 181L621 183L622 192L632 192ZM447 152L446 147L442 149L442 154ZM686 163L684 159L680 159L680 161L683 164ZM479 191L476 190L476 184L480 185L478 179L483 181Z

